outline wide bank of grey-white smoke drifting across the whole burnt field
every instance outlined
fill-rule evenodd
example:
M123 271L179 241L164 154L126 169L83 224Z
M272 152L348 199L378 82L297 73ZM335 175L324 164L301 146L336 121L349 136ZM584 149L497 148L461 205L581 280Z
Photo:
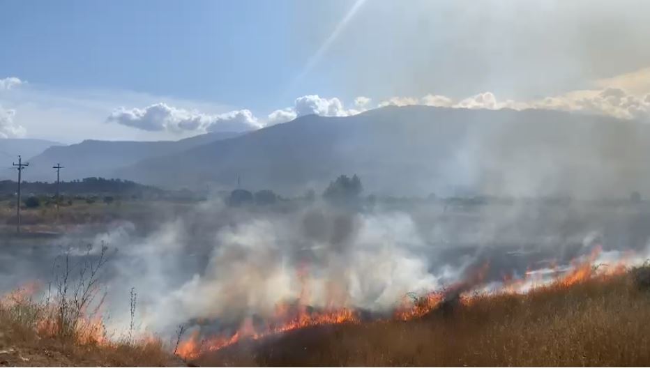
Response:
M498 289L504 275L527 270L550 278L596 247L603 252L595 264L614 264L630 252L642 261L650 254L645 218L640 206L579 203L464 208L421 201L351 209L293 201L233 208L211 199L170 213L149 233L119 222L31 250L8 244L0 290L35 275L47 284L57 254L83 259L108 247L103 310L107 328L118 334L128 330L131 288L137 330L162 336L179 325L208 321L218 331L271 319L279 305L292 303L386 314L408 293L452 285L459 292Z

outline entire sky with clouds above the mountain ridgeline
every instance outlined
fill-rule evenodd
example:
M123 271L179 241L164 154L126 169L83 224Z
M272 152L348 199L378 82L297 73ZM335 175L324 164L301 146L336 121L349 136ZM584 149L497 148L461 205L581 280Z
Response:
M180 139L385 105L650 116L648 1L0 0L0 139Z

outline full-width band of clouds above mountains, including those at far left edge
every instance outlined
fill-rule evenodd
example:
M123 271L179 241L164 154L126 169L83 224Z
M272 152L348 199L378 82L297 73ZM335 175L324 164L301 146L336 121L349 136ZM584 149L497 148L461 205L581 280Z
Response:
M387 106L409 106L426 105L433 107L446 107L456 109L551 109L566 112L579 112L587 114L601 114L621 119L648 120L650 118L650 68L643 68L636 72L597 79L591 83L591 89L575 90L552 95L535 100L511 100L500 99L492 91L483 91L465 98L454 98L448 95L429 93L422 97L409 95L396 95L390 98L372 100L365 96L358 96L346 106L341 98L321 97L317 94L303 95L294 100L294 104L282 109L276 109L266 116L255 116L250 109L238 109L222 114L206 114L205 109L213 109L213 105L192 105L185 102L158 102L157 98L151 96L146 102L132 102L135 106L144 107L120 107L113 109L114 102L97 103L94 100L83 100L86 105L96 110L98 114L107 114L105 118L109 123L116 123L115 126L136 128L142 132L158 132L162 135L172 133L174 135L196 135L204 132L230 131L243 132L256 130L264 126L274 125L292 121L300 116L317 114L319 116L350 116L365 112L368 109L376 109ZM0 137L22 137L26 125L31 119L52 118L52 114L59 114L59 104L67 103L57 101L57 104L47 109L47 116L35 116L29 114L31 106L24 101L24 91L12 91L17 86L26 84L17 77L6 77L0 79L0 104L5 108L1 112ZM33 90L33 89L32 89ZM33 91L32 91L33 92ZM21 99L20 96L23 96ZM14 96L14 97L12 97ZM15 97L19 96L19 97ZM52 97L48 97L52 100ZM80 97L73 97L75 102ZM142 100L142 99L141 99ZM116 100L117 101L117 100ZM152 103L153 102L153 103ZM142 104L142 105L141 105ZM132 105L132 106L133 106ZM192 106L192 109L177 107L178 105ZM26 109L23 113L20 110ZM18 123L14 116L20 113ZM65 116L75 114L75 110L66 111ZM43 114L41 114L43 115ZM63 116L63 115L61 115ZM87 120L87 118L86 118ZM101 120L99 120L101 121ZM29 124L27 124L29 125ZM39 130L40 132L40 130ZM123 132L128 135L128 131ZM163 136L161 136L163 137Z

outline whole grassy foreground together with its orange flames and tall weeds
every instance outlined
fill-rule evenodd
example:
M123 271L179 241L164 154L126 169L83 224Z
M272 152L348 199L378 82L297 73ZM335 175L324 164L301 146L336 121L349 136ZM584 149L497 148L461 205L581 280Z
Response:
M157 338L132 338L133 289L128 337L107 337L96 282L103 249L80 265L75 282L66 258L53 296L41 302L31 299L36 284L0 299L0 363L176 365L173 350L200 365L648 365L650 265L630 270L628 257L603 264L601 255L596 247L568 268L505 277L496 288L486 284L484 264L382 316L313 309L300 298L230 334L194 332L183 340L181 328L172 349ZM301 280L303 296L308 277Z

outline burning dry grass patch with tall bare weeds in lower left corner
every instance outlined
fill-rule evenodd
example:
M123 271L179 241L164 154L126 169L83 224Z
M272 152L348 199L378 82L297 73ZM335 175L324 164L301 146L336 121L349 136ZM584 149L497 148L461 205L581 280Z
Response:
M107 337L98 309L103 296L98 273L108 260L106 247L93 261L70 266L56 277L54 293L32 300L37 284L0 296L0 366L167 366L181 360L155 337L133 339L131 328L119 339ZM90 257L86 255L86 259ZM73 278L73 274L76 275Z

